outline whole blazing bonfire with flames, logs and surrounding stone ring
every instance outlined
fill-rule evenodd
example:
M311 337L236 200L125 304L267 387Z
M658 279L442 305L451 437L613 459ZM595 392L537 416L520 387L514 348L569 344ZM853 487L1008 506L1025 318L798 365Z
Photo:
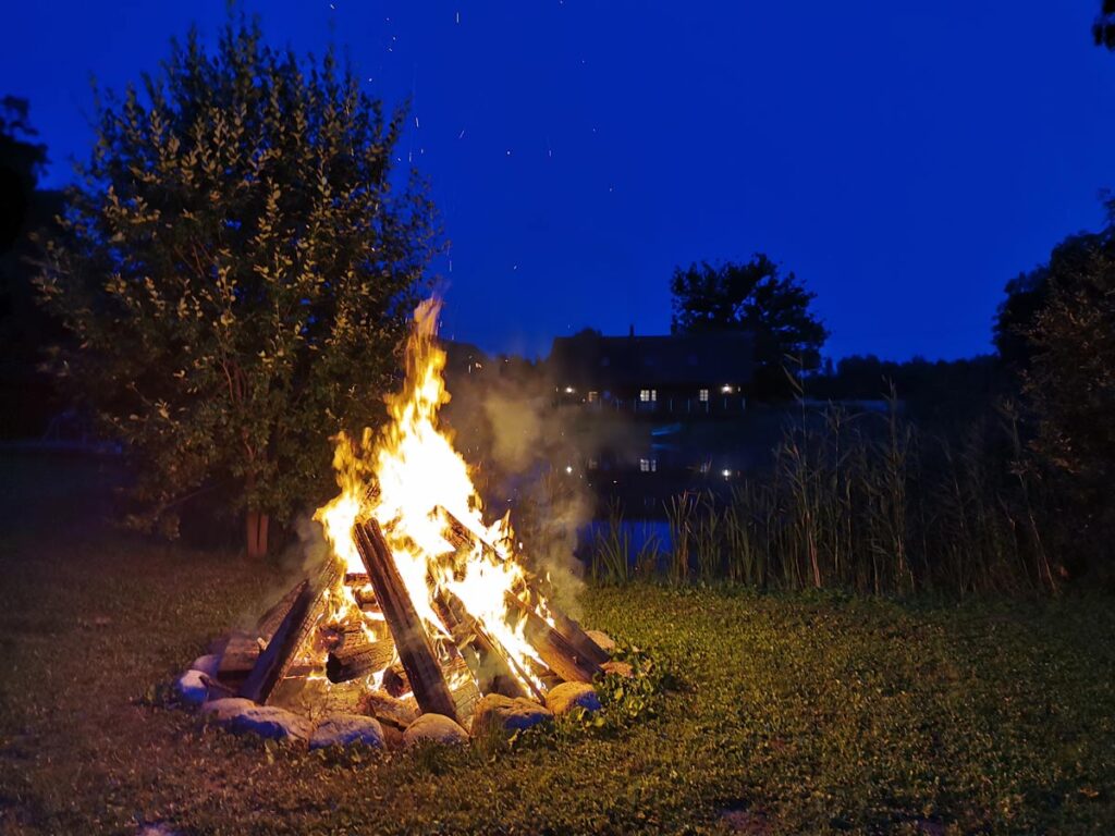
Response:
M392 732L453 739L599 709L592 682L613 664L610 640L554 607L510 514L485 522L438 428L438 312L427 301L415 313L386 430L338 440L341 493L316 515L330 554L254 631L226 636L180 680L219 722L311 745L375 742L378 727L381 745Z

